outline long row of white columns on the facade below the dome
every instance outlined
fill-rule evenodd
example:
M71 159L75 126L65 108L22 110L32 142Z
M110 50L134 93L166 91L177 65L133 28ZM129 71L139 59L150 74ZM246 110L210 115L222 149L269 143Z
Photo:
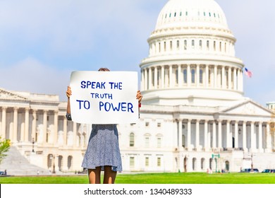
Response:
M222 122L223 120L217 120L217 121L209 121L204 120L204 130L203 130L203 145L200 145L200 120L195 120L195 132L191 129L191 122L192 120L187 121L187 137L186 137L186 148L188 151L191 151L191 133L195 133L195 145L194 148L196 150L200 150L201 148L204 148L205 151L209 151L210 148L233 148L233 137L234 137L234 148L243 148L244 151L247 151L247 126L250 126L250 151L271 151L272 147L272 139L269 129L269 124L267 122L257 122L258 130L256 132L255 125L256 122L247 122L243 121L241 125L239 125L238 121L231 121L226 120L226 132L225 136L222 135ZM216 124L217 122L217 124ZM182 142L182 136L183 136L183 120L178 120L178 149L182 150L183 142ZM209 129L209 124L212 124L212 130ZM242 126L240 129L240 126ZM266 126L266 144L263 145L263 127ZM242 146L240 147L239 143L239 129L242 132L241 136L241 143ZM258 134L257 134L258 133ZM258 137L258 139L257 139ZM226 140L225 144L223 145L223 139Z

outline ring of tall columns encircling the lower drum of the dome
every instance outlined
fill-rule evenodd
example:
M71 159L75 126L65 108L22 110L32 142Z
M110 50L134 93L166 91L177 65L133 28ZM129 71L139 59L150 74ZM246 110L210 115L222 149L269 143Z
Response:
M141 70L142 91L175 86L243 91L243 71L233 66L208 64L170 64Z

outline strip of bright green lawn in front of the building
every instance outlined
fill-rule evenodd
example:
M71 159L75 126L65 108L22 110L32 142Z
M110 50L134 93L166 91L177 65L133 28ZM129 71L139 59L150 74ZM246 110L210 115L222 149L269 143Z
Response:
M87 184L87 175L0 177L1 184ZM275 184L274 173L140 173L120 174L116 184Z

